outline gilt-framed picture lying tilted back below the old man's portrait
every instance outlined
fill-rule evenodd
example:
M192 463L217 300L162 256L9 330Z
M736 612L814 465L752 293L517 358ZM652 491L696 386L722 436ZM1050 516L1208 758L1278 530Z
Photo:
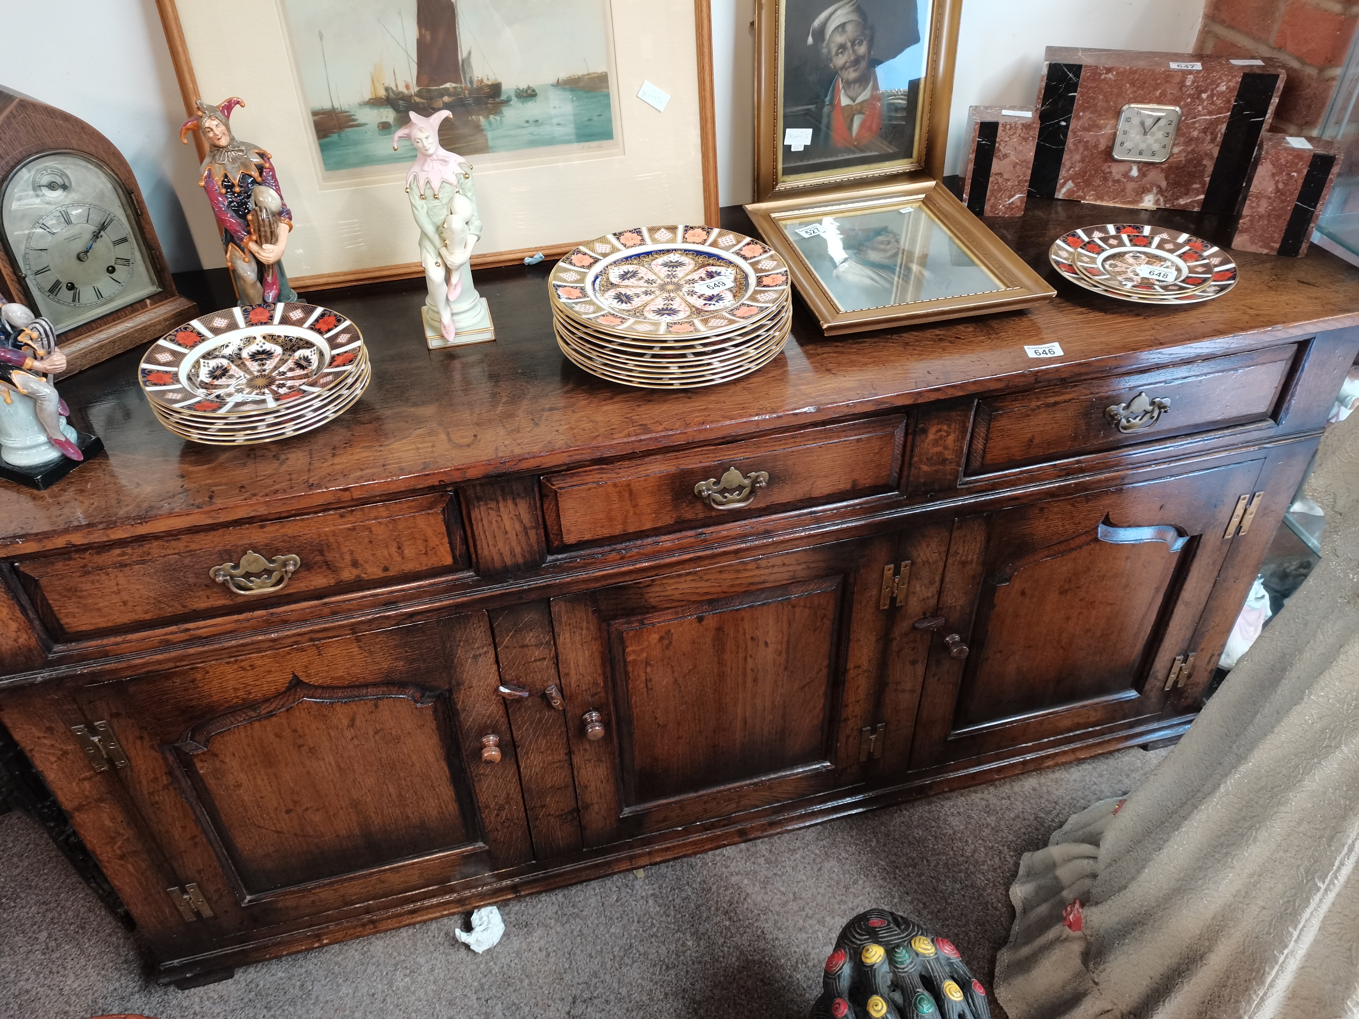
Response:
M746 211L828 334L1010 311L1056 293L935 181Z

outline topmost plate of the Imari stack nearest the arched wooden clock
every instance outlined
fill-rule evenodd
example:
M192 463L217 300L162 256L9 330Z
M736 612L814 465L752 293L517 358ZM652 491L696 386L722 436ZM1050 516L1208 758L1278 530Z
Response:
M137 378L159 409L269 414L353 371L363 336L338 312L277 303L211 312L160 337Z

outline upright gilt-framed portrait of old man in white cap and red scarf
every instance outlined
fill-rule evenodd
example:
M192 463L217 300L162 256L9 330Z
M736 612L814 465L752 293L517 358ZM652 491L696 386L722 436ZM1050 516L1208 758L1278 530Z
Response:
M959 0L758 0L757 200L938 177L959 11Z

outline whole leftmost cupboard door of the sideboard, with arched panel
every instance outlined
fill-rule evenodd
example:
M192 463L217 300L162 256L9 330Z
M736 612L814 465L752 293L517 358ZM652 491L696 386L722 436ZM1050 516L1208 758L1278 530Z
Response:
M469 613L80 700L129 758L110 781L163 856L164 887L196 884L212 913L183 918L231 931L531 859L496 685L489 622Z

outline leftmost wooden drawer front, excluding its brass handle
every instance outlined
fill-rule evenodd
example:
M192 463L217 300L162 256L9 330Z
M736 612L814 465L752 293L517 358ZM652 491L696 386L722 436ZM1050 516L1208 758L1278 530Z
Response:
M235 594L209 576L247 552L302 564L277 594ZM72 640L413 580L465 568L466 553L448 496L438 493L12 565L49 633Z

